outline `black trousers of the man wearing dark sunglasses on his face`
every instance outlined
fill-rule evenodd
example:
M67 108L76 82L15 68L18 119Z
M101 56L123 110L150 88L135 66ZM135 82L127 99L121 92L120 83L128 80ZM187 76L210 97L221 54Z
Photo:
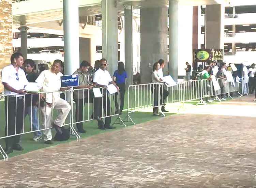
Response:
M94 119L97 117L101 117L102 108L104 109L105 116L109 116L110 114L110 100L107 94L107 89L101 89L102 98L94 98ZM105 118L105 125L110 125L111 117Z

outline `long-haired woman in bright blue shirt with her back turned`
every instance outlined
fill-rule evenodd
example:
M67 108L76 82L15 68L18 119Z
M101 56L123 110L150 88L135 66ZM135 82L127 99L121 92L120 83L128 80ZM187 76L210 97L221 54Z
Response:
M125 94L125 83L126 83L127 74L124 69L124 63L118 62L117 70L114 72L113 80L117 83L117 86L120 89L120 114L123 112L123 106L124 106L124 94ZM114 95L114 100L116 101L116 109L118 113L118 93Z

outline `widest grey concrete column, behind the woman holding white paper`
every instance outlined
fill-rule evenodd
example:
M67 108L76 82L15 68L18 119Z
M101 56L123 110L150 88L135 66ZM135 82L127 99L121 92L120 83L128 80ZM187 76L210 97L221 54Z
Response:
M167 7L143 8L140 11L141 82L150 83L153 64L167 62ZM163 70L167 74L167 63Z

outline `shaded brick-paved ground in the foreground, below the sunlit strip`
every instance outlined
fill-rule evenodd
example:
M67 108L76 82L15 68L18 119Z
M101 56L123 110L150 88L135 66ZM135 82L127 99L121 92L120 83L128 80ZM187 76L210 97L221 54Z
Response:
M169 116L0 161L0 187L256 187L255 125Z

